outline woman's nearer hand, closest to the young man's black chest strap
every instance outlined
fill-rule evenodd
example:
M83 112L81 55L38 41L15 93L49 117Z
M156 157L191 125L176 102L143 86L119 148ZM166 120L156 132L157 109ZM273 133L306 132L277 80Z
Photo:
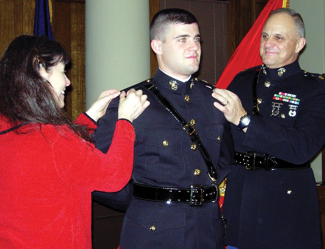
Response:
M136 119L148 106L147 95L142 94L142 90L130 89L125 94L120 95L118 118L125 118L131 122Z

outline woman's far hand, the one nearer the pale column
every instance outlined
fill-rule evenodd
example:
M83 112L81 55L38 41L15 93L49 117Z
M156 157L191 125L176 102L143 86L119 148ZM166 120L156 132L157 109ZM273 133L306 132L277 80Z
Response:
M90 106L88 111L86 111L87 115L97 122L98 119L100 119L106 113L106 109L110 101L120 94L121 92L117 89L101 92L97 100Z

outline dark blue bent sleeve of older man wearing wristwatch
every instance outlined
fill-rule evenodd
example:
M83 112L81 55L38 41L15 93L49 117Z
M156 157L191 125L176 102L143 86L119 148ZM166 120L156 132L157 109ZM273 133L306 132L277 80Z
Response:
M301 104L292 127L252 115L242 145L295 164L310 160L325 142L324 86Z

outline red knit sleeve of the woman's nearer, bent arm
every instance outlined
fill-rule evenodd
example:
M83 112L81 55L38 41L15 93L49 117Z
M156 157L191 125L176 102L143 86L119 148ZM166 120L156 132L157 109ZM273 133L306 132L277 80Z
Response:
M135 132L125 120L117 121L114 127L106 154L72 132L64 136L58 133L52 156L66 184L82 191L115 192L128 183L133 167Z

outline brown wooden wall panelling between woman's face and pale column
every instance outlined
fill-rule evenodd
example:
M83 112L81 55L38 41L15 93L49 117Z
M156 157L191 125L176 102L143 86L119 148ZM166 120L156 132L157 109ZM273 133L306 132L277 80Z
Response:
M85 111L85 0L52 0L54 38L71 56L65 110L74 120Z

